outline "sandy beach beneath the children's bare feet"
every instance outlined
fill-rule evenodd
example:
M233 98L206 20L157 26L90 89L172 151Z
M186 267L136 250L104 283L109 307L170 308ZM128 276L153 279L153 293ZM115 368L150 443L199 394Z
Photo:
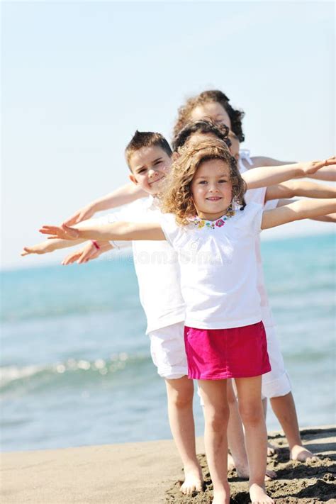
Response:
M336 503L336 428L301 430L303 441L319 455L308 464L289 461L286 440L269 436L279 449L269 457L278 478L267 483L277 504ZM4 504L210 504L211 482L203 439L197 439L205 491L184 497L181 463L170 440L79 447L1 455ZM249 502L247 482L229 474L232 503Z

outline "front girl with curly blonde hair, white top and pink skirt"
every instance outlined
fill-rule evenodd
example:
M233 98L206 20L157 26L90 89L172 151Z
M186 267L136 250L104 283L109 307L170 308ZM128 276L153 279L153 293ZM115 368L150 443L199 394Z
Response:
M295 165L291 177L332 163L335 159ZM246 174L245 180L253 181L253 174ZM270 177L267 183L274 179ZM162 208L170 215L163 215L160 223L81 223L76 228L44 226L41 230L68 240L167 240L178 252L189 378L198 380L205 405L204 439L213 504L230 502L228 378L235 378L245 426L250 498L258 504L274 502L264 488L267 432L261 378L270 366L257 291L255 237L262 229L336 209L335 200L324 199L263 211L257 203L245 205L244 194L245 181L224 142L187 143L167 177Z

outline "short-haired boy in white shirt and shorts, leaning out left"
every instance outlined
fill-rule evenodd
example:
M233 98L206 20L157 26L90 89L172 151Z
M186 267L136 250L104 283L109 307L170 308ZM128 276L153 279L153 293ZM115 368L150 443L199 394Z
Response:
M147 197L135 201L118 214L109 215L108 222L157 220L159 208L155 196L159 193L165 172L172 164L171 155L167 140L159 133L135 132L125 149L125 157L130 180ZM106 222L106 218L101 222ZM38 250L32 252L50 252L62 245L69 246L57 240L54 244L46 244L44 250L43 247L37 247ZM113 245L120 248L123 243ZM95 242L94 247L96 252L106 252L113 245ZM29 253L27 249L26 253ZM184 466L181 492L191 494L201 491L203 480L196 458L192 410L194 383L186 376L184 301L179 289L177 255L167 242L140 241L133 242L133 256L140 301L147 316L150 352L159 376L166 382L169 424Z

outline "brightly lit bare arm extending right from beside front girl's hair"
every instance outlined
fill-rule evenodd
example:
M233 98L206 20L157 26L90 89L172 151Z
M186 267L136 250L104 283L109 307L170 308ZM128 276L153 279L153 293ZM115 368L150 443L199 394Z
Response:
M247 183L247 189L257 189L257 187L280 184L296 177L308 177L310 174L316 173L318 169L335 163L334 156L323 161L284 164L283 166L273 167L271 170L267 169L267 167L259 167L244 172L242 178Z

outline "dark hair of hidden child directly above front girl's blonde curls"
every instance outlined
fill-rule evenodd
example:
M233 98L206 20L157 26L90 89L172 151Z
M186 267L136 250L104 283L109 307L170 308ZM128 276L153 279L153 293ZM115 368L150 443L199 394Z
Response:
M217 138L223 140L228 147L231 147L231 140L228 138L229 131L228 126L216 123L210 118L190 121L174 137L172 147L174 151L178 150L179 147L182 147L189 140L193 133L213 133Z

